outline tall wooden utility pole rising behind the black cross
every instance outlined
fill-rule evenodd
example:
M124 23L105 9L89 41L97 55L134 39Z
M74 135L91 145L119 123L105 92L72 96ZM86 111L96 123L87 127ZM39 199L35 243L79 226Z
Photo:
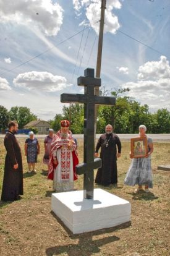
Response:
M98 36L98 58L97 58L97 63L96 63L96 77L97 78L100 78L100 72L101 72L101 56L102 56L102 47L103 47L105 9L106 9L106 0L101 0L100 30L99 30L99 36ZM95 95L99 95L100 94L99 92L100 92L99 87L96 87ZM98 114L98 106L95 106L95 134L96 134L97 114Z

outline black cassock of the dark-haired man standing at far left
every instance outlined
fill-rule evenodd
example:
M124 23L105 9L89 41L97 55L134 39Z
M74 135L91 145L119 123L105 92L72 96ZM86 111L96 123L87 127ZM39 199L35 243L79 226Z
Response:
M14 201L19 199L19 195L23 195L23 173L20 146L12 132L7 132L4 138L4 146L7 154L1 200ZM14 169L14 164L17 163L19 168Z

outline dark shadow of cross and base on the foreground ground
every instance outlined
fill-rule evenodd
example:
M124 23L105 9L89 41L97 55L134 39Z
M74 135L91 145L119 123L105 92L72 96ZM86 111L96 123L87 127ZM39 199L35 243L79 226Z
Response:
M70 230L62 223L62 221L51 211L51 214L56 218L57 222L61 224L61 226L66 230L68 233L68 236L70 236L70 239L79 239L78 244L67 244L67 245L58 245L55 247L50 247L46 249L46 255L52 256L52 255L61 255L66 254L71 255L81 255L81 256L90 256L92 254L96 254L100 252L100 247L104 244L109 244L111 242L119 241L119 237L117 236L108 236L103 237L100 239L93 240L93 236L99 236L106 233L113 233L114 231L118 229L124 229L128 228L131 223L127 222L124 224L121 224L119 226L116 226L114 228L107 228L107 229L100 229L97 231L92 231L88 233L83 234L72 234Z

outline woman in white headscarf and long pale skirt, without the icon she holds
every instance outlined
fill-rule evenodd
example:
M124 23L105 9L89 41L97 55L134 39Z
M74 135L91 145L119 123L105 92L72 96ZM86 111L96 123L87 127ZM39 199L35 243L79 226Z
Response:
M134 158L130 164L129 170L125 176L124 184L129 186L138 185L134 190L137 193L142 190L142 186L145 186L145 192L150 192L149 188L153 187L152 175L151 175L151 153L153 153L153 142L150 137L146 135L147 127L143 124L138 127L140 137L147 137L148 153L142 158ZM130 158L132 154L130 152Z

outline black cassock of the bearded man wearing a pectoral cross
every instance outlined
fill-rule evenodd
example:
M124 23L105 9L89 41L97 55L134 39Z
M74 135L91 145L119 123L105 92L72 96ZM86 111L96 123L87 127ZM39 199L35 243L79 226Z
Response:
M97 171L95 183L103 186L117 184L117 149L121 153L121 141L116 134L103 134L96 145L96 153L100 147L102 166Z

